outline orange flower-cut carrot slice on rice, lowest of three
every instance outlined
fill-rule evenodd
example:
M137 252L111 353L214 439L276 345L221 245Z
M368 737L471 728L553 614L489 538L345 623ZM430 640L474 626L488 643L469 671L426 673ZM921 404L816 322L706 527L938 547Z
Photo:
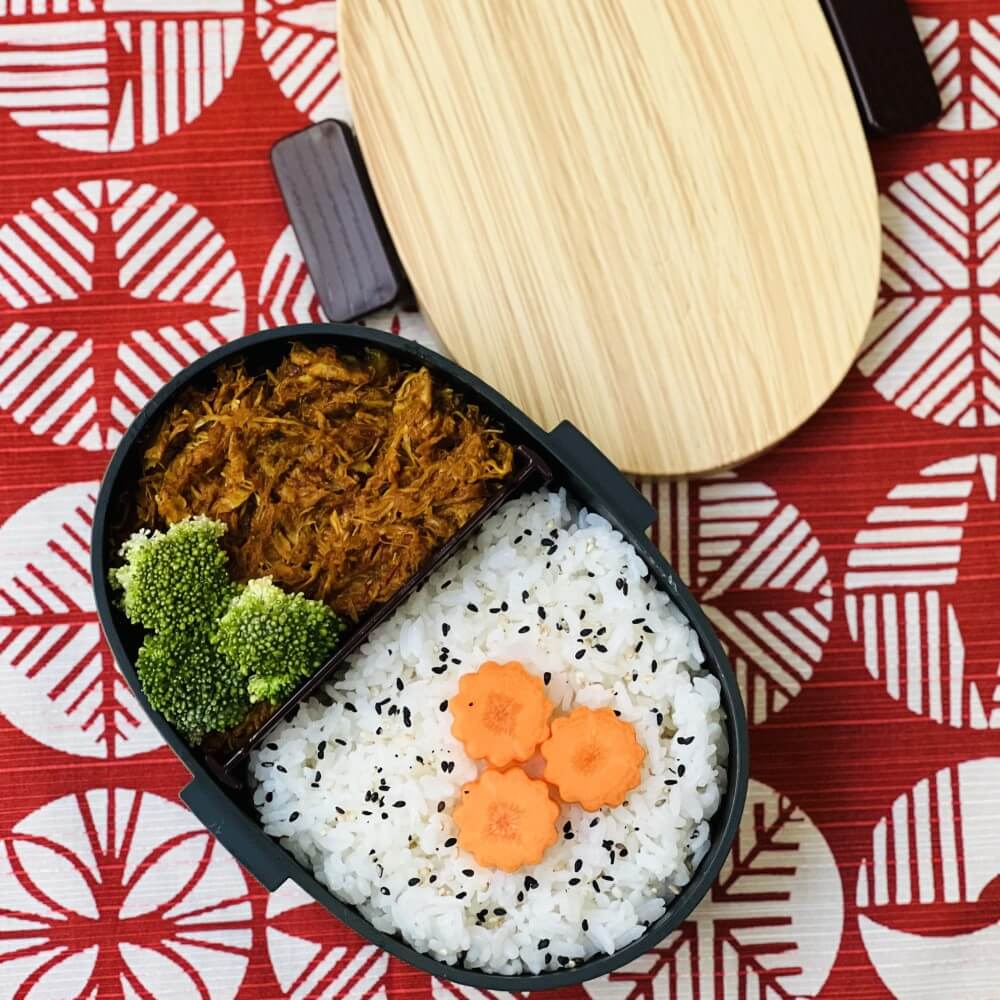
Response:
M484 771L465 785L452 818L463 851L486 868L514 872L542 860L559 837L558 816L548 785L512 767Z

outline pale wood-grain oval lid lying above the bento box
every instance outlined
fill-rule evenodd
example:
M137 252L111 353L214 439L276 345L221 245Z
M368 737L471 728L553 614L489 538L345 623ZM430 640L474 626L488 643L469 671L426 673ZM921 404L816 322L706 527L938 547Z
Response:
M344 0L358 137L457 359L622 468L736 463L843 377L875 179L812 0Z

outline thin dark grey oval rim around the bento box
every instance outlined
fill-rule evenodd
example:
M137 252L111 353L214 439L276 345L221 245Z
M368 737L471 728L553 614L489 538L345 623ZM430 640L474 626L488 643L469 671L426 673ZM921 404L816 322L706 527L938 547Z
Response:
M297 339L304 341L322 339L327 342L353 343L360 347L376 346L385 348L391 354L404 356L411 361L424 364L432 370L439 371L449 381L460 385L463 391L470 392L472 395L479 397L478 400L474 401L486 401L490 407L503 415L503 420L508 428L516 428L521 435L530 439L535 447L540 447L548 456L556 458L560 466L564 466L571 476L574 475L574 470L569 465L564 465L560 457L560 445L556 440L557 433L567 425L560 425L553 432L542 430L541 427L522 413L521 410L509 402L497 390L455 362L414 341L405 340L379 330L339 323L307 323L278 327L223 344L221 347L203 355L174 375L143 407L122 436L101 479L97 503L95 505L91 539L91 570L98 617L102 631L114 653L115 659L122 673L125 675L129 687L139 700L147 716L156 726L164 742L192 775L191 784L181 794L182 799L190 805L191 799L195 796L189 796L187 793L196 791L198 792L197 798L204 800L205 788L206 786L210 787L214 796L217 797L214 802L210 803L210 807L219 815L229 813L229 818L234 818L235 811L235 815L243 822L235 831L232 831L229 838L226 838L222 836L224 824L221 820L218 824L214 824L209 819L206 819L205 812L207 810L193 809L192 811L205 824L209 832L213 833L219 839L223 847L229 850L255 879L261 881L265 884L265 887L269 887L272 890L277 888L277 885L273 884L267 886L269 880L259 875L254 870L252 862L245 859L247 852L240 851L233 846L236 842L247 844L248 838L250 838L253 842L248 844L248 846L252 847L253 850L249 853L254 855L258 860L266 855L269 865L271 867L279 867L284 879L291 879L298 884L327 911L352 930L361 934L377 947L383 948L402 961L424 972L428 972L438 979L491 991L533 992L536 990L558 989L577 985L605 976L627 965L635 958L655 947L664 937L676 930L687 919L694 908L707 895L722 869L739 828L746 799L749 778L749 733L743 700L735 674L705 614L688 591L687 586L679 579L673 567L667 562L662 553L652 544L652 541L645 534L644 530L636 531L634 526L620 523L613 509L605 511L609 516L609 520L635 546L647 566L656 575L658 583L661 586L665 586L671 600L683 611L698 634L699 641L705 652L706 661L712 666L713 673L719 679L722 687L723 706L727 715L726 736L729 743L729 762L727 764L727 788L723 795L719 813L716 814L716 817L713 817L713 825L717 825L717 831L713 835L708 853L698 865L691 881L683 887L679 895L669 905L666 913L658 921L650 925L641 937L637 938L631 944L620 948L612 955L594 956L576 967L558 969L551 972L499 975L475 969L467 969L461 966L448 965L417 951L395 936L376 930L354 907L337 899L336 896L319 883L311 872L302 867L285 851L277 841L268 837L253 818L246 815L221 782L211 774L173 728L160 717L159 713L150 709L139 687L135 666L118 632L114 619L110 587L106 579L107 567L104 559L107 543L106 523L111 504L117 499L113 493L116 480L122 466L131 457L131 451L137 439L149 423L155 417L159 416L167 401L187 384L194 381L208 369L234 355L244 352L248 348L277 341L288 341L290 343ZM579 432L575 428L570 428L570 430L579 435ZM587 443L589 444L589 442ZM591 445L591 447L593 446ZM599 455L599 457L605 462L607 461L603 455ZM623 483L627 482L620 471L617 469L614 471L621 477ZM556 485L559 484L560 478L562 477L557 474L555 479Z

